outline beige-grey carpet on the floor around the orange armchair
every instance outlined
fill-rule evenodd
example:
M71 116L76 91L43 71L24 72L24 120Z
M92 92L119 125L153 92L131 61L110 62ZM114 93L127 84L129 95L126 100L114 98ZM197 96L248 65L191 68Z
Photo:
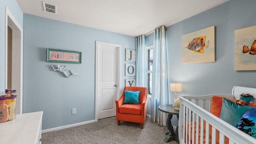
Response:
M144 128L140 124L121 121L116 117L42 134L42 144L178 144L164 142L166 126L159 126L146 118Z

